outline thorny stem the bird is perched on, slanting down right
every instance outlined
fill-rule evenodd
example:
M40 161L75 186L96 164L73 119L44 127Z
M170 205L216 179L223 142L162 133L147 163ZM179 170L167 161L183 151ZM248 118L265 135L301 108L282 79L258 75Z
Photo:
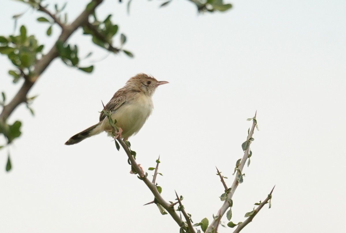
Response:
M161 196L161 194L157 191L156 189L156 185L153 184L151 181L149 181L148 178L145 177L145 174L143 174L142 170L139 168L138 164L136 163L136 160L133 158L131 151L129 150L129 148L127 147L127 145L125 144L125 142L121 139L118 138L117 141L119 142L119 144L122 146L122 148L124 148L130 162L131 162L131 166L133 166L133 168L135 169L135 171L138 173L139 177L141 178L141 180L143 180L143 182L148 186L148 188L150 189L150 191L154 194L154 196L156 197L157 203L159 203L160 205L162 205L162 207L172 216L172 218L174 219L174 221L179 225L183 225L184 222L180 219L180 217L176 214L174 208L172 207L172 205L168 202L166 202L163 197Z

